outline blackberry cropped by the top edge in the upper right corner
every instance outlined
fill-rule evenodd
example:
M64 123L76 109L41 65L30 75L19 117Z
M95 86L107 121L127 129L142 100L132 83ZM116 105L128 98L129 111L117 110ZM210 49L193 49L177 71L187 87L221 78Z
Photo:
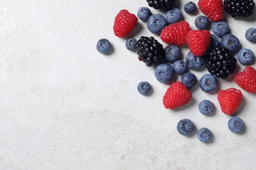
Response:
M255 3L253 0L224 0L224 9L233 18L247 18L253 14Z

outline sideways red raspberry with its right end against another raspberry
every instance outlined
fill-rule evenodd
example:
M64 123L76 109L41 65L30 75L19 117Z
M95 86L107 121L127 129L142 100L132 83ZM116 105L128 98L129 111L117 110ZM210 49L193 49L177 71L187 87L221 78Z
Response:
M185 21L180 21L163 28L161 30L160 38L167 44L183 46L188 44L186 41L188 31L190 31L189 24Z

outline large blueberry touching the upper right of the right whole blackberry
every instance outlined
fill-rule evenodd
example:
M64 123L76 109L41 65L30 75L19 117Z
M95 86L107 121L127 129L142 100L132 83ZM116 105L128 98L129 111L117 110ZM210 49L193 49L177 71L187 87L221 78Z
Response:
M234 52L239 48L240 41L235 35L227 34L221 38L220 45L228 48L231 52Z

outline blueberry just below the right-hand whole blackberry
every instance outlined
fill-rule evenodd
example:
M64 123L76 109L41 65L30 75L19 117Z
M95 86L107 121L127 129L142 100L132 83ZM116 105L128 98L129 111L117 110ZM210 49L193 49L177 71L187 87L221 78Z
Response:
M217 88L218 80L215 76L206 74L199 80L199 86L203 92L213 92Z

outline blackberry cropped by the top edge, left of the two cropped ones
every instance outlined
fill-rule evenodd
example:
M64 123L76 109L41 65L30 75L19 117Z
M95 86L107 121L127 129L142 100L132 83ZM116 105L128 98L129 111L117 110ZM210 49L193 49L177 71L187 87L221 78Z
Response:
M173 8L173 4L176 0L146 0L148 6L153 7L154 9L161 9L167 11Z

